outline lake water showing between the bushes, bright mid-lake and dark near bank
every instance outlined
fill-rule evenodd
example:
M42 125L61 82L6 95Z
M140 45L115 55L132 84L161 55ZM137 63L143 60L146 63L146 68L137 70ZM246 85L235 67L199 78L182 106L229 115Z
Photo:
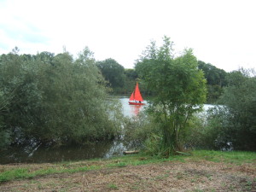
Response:
M134 106L129 105L129 98L122 96L119 98L123 106L125 116L132 117L143 111L146 105ZM145 102L147 103L147 102ZM211 105L205 105L205 109L211 108ZM122 155L126 148L120 141L108 143L96 143L84 145L82 147L62 147L62 148L43 148L43 147L26 147L11 148L8 151L0 152L0 164L6 163L44 163L59 162L70 160L88 160L93 158L109 158L115 155Z

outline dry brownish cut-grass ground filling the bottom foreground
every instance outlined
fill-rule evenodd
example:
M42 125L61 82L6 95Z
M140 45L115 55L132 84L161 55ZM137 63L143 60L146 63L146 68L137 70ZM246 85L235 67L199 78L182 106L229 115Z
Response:
M0 191L256 191L255 167L168 161L16 180Z

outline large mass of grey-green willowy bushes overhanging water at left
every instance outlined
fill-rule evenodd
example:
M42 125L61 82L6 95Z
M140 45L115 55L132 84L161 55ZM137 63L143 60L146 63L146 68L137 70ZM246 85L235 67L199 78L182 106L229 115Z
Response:
M116 135L113 102L106 102L105 81L88 48L76 60L67 52L1 55L0 93L0 131L13 142L87 143Z

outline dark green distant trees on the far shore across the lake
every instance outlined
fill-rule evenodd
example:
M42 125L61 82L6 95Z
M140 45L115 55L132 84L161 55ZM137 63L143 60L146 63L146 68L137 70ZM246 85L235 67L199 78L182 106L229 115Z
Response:
M97 61L96 65L108 81L108 87L112 89L113 94L130 94L136 82L140 81L136 68L125 69L113 59ZM198 68L204 72L207 79L207 103L217 102L219 96L223 94L224 86L227 85L226 78L229 73L203 61L198 61ZM148 90L143 81L140 82L140 89L143 96L152 94L152 91Z

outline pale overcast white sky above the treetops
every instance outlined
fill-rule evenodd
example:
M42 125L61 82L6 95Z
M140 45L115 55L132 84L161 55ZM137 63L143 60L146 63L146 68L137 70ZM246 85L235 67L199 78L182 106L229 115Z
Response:
M143 50L166 35L176 55L192 48L224 69L256 68L254 0L0 0L0 55L88 46L96 61L134 67Z

